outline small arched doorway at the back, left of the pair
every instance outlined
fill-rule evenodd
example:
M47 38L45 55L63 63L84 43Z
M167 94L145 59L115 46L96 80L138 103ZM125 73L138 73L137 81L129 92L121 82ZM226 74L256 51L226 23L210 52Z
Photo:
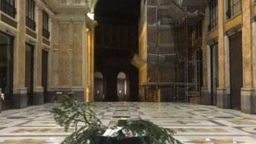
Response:
M95 72L95 86L94 86L94 99L95 101L104 101L104 76L102 75L102 73L100 73L100 71L96 71Z

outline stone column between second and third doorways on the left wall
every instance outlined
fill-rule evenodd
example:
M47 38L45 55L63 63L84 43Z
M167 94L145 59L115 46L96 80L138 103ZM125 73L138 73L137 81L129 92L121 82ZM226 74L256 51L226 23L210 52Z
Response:
M33 94L33 105L43 104L43 87L42 87L42 49L43 49L43 6L37 5L37 47L35 47L35 88Z

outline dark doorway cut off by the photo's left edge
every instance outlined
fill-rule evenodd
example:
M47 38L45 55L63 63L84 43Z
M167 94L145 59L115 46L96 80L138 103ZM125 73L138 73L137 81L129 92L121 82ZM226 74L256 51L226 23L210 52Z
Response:
M0 88L5 96L3 110L11 109L13 95L13 44L14 37L0 31Z

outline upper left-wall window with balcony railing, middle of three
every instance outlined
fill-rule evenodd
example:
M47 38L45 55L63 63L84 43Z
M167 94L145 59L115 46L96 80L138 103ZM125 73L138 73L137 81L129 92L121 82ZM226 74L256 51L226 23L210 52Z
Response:
M26 26L35 31L35 2L26 0Z

